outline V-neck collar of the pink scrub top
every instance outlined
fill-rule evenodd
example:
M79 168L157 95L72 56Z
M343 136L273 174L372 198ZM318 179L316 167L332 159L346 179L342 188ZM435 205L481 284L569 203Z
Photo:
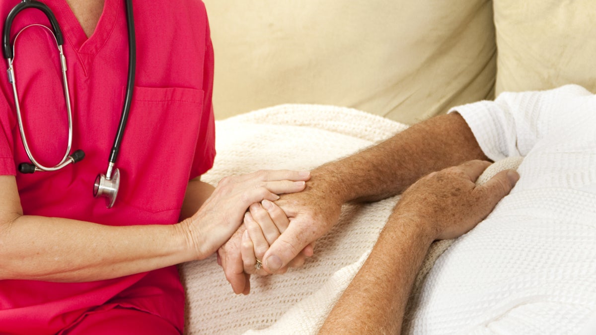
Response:
M75 13L73 13L65 0L52 1L52 3L56 7L55 10L53 8L52 10L56 12L58 24L60 24L64 39L73 46L73 49L77 53L88 57L97 54L99 49L105 44L105 41L107 41L114 29L117 13L119 13L120 6L122 5L122 1L120 0L105 0L104 9L97 27L95 27L93 34L87 38L83 28L80 26L79 20L75 17Z

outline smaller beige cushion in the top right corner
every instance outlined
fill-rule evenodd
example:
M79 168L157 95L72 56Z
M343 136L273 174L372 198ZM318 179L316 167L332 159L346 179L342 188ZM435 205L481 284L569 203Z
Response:
M568 83L596 92L596 1L494 3L497 94Z

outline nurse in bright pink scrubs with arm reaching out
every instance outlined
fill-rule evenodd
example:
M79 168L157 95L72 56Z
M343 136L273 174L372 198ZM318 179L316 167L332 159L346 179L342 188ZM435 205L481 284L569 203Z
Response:
M0 17L19 0L3 0ZM85 159L23 174L29 162L13 91L0 81L0 333L179 334L184 292L176 264L212 255L246 209L301 191L308 172L265 171L213 189L213 49L196 0L135 1L136 77L117 167L114 207L93 197L122 111L128 70L123 0L43 0L64 35L73 148ZM48 25L25 10L14 34ZM60 64L51 33L25 29L14 64L33 154L59 162L68 142ZM6 64L0 72L4 73Z

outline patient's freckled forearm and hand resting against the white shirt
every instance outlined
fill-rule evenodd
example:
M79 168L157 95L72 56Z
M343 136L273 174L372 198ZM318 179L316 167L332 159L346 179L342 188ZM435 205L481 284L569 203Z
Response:
M465 234L517 182L516 172L504 171L486 184L474 184L489 164L466 162L408 188L319 333L399 333L415 275L432 241Z

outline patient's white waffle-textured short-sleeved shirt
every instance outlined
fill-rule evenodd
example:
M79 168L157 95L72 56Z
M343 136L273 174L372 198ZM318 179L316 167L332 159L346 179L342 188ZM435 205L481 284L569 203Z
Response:
M525 156L521 178L437 259L411 333L586 331L596 311L596 97L569 85L455 110L487 156Z

